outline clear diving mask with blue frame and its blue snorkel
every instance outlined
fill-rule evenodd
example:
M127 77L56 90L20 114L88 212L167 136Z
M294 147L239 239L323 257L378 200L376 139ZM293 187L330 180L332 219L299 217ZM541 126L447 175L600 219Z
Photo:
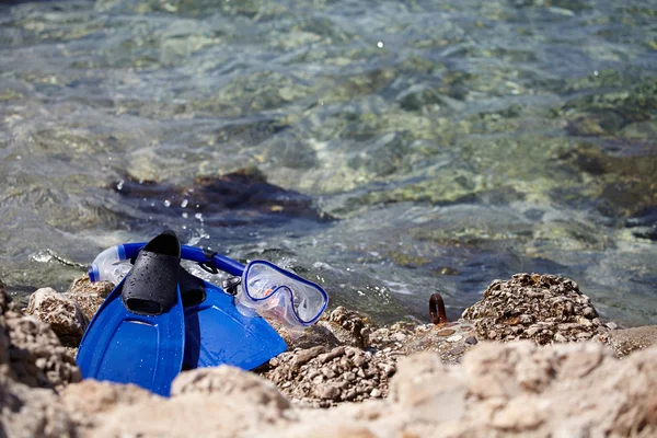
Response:
M146 245L124 243L100 253L89 268L91 281L118 284L130 270L129 262ZM234 260L201 249L183 245L181 258L198 263L210 274L219 270L233 276L224 289L235 296L238 310L272 315L278 322L303 328L315 323L328 304L328 296L319 285L266 261L252 261L246 266Z

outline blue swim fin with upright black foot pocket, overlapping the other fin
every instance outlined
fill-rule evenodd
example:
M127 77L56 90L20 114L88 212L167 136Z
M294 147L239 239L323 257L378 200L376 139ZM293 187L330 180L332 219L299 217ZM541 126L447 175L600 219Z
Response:
M185 350L180 255L181 243L170 231L139 252L84 333L77 357L83 378L169 395Z

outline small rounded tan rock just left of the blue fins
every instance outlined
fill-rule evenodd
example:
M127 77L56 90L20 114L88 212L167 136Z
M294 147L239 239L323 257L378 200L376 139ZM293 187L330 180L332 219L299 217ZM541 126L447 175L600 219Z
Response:
M50 325L65 346L80 344L89 320L71 299L51 288L42 288L30 296L26 314Z

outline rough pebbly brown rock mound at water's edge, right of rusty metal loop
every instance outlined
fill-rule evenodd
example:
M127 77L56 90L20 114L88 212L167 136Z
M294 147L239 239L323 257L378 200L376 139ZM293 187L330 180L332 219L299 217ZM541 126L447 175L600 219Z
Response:
M463 312L484 339L532 339L537 344L588 339L598 312L577 284L554 275L516 274L495 280L484 298Z

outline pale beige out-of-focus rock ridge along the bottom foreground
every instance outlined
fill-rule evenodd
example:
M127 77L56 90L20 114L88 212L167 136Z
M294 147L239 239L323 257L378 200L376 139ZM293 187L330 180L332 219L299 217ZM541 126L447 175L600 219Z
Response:
M332 361L360 354L345 347ZM319 356L301 368L314 362ZM338 394L339 400L383 395L365 380L348 393L335 382L311 388L324 405L337 403ZM290 404L270 383L231 367L183 372L171 399L93 381L68 387L61 399L62 406L79 412L73 418L81 437L648 438L657 434L655 388L657 348L620 361L599 343L523 341L480 343L457 366L442 364L435 353L408 356L399 362L388 399L327 410Z

